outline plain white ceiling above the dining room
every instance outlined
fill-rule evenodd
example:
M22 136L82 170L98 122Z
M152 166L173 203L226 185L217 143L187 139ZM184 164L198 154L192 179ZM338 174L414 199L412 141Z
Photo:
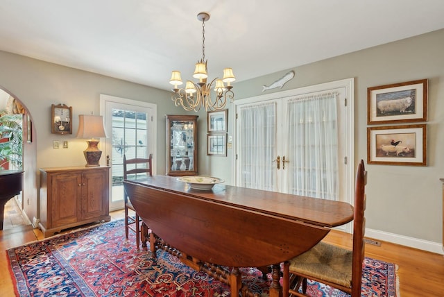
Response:
M237 80L444 28L443 0L1 0L0 50L170 90L172 70Z

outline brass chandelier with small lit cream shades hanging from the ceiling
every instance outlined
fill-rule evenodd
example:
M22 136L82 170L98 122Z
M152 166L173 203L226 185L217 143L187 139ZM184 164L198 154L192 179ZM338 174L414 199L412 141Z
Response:
M205 22L210 19L208 12L200 12L197 15L197 19L202 22L202 59L196 63L194 69L194 78L198 78L198 83L187 80L185 89L178 88L178 85L182 85L182 78L180 77L180 71L174 70L171 73L171 79L169 83L174 85L173 95L171 100L174 101L176 106L182 106L187 111L194 110L198 112L202 106L205 107L205 111L221 110L225 108L227 99L230 102L233 101L234 93L232 92L231 83L236 80L231 68L223 69L223 78L214 78L211 83L207 83L207 60L205 60ZM226 85L225 85L226 83ZM211 91L214 85L215 96L212 99Z

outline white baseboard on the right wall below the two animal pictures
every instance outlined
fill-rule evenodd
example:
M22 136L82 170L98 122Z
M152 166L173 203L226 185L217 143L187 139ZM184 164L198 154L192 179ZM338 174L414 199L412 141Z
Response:
M366 229L366 237L379 239L382 241L389 241L393 244L400 244L402 246L409 246L411 248L418 248L423 251L444 255L443 244L441 244L441 242L427 241L373 229Z

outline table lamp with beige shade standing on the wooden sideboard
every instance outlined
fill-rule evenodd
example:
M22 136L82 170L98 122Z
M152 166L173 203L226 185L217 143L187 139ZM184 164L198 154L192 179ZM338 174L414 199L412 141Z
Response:
M88 147L83 151L86 159L86 167L97 167L102 155L102 151L97 147L100 137L107 137L103 128L103 117L101 115L78 115L77 138L87 138Z

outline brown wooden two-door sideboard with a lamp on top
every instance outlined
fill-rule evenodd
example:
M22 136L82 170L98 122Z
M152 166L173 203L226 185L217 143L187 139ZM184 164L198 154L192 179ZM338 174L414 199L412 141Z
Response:
M94 221L110 221L110 167L40 169L40 223L44 237Z

